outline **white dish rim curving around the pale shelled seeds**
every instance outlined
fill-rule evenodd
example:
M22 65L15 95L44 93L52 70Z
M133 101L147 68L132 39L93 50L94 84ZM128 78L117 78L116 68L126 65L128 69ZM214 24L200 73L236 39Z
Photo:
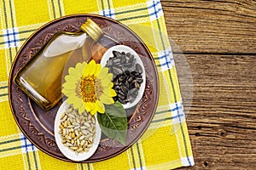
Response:
M67 101L64 101L55 116L55 141L56 141L59 149L61 150L61 153L64 156L66 156L68 159L71 159L73 161L84 161L84 160L90 158L90 156L92 156L95 153L95 151L100 143L100 139L102 136L102 130L101 130L101 127L99 126L97 119L96 119L96 137L93 141L93 144L92 144L90 150L88 152L79 153L77 155L73 150L68 149L66 146L64 146L64 144L61 143L61 134L59 134L59 131L60 131L59 125L61 122L61 114L67 110L67 106L68 106Z

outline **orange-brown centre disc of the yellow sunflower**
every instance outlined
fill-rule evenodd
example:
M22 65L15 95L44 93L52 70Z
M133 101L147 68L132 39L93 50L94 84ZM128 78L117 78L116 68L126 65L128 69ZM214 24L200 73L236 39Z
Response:
M96 102L96 77L82 77L80 82L80 94L84 102Z

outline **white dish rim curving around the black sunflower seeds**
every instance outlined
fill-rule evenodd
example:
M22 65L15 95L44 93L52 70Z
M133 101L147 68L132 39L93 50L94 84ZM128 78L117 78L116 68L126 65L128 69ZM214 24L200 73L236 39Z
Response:
M142 59L139 57L139 55L130 47L128 46L125 46L125 45L116 45L116 46L113 46L112 48L109 48L105 54L103 54L102 56L102 60L101 60L101 65L102 66L105 66L107 65L107 61L109 58L113 57L113 51L118 51L120 53L122 52L125 52L125 54L127 53L130 53L132 55L134 55L135 59L137 60L137 64L141 65L142 68L143 68L143 73L142 73L142 76L143 76L143 82L141 84L141 87L138 91L138 94L137 94L137 98L132 102L128 102L127 104L122 104L123 107L125 109L128 109L128 108L131 108L133 107L134 105L137 105L137 103L142 99L143 97L143 94L144 94L144 90L145 90L145 86L146 86L146 73L145 73L145 67L143 65L143 61Z

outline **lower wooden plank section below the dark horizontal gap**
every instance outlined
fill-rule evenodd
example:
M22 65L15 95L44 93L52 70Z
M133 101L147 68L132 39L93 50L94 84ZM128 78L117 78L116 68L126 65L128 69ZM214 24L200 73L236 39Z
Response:
M188 88L184 61L175 59L181 87ZM255 56L191 54L186 59L194 80L187 122L195 167L179 169L255 169Z

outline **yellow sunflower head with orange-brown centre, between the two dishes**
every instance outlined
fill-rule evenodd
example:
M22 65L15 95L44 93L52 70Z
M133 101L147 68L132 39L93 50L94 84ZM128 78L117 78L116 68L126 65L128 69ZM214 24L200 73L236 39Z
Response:
M68 69L62 93L67 96L67 103L73 104L79 113L85 110L91 115L104 113L104 105L113 104L113 97L116 96L112 78L108 68L102 68L93 59L89 64L78 63L75 68Z

